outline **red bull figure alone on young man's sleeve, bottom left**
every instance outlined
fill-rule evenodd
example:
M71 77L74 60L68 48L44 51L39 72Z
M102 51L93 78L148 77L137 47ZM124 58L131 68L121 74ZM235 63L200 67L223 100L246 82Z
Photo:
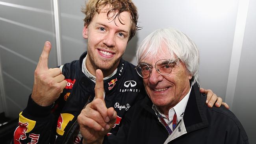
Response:
M26 139L26 131L28 123L19 122L19 126L14 131L14 144L21 144L20 140Z

